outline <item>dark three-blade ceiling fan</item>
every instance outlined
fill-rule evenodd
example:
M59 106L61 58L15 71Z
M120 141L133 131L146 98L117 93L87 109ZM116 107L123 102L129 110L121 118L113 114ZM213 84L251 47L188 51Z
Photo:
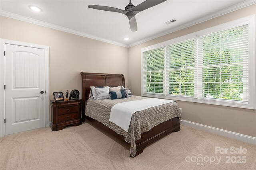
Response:
M110 7L110 6L100 6L100 5L89 5L88 8L93 8L96 10L110 11L110 12L118 12L124 14L129 19L129 24L132 32L137 31L137 22L135 19L136 14L139 12L151 8L152 6L156 6L161 4L166 0L146 0L141 4L134 6L130 0L130 3L124 8L125 10L121 10L118 8Z

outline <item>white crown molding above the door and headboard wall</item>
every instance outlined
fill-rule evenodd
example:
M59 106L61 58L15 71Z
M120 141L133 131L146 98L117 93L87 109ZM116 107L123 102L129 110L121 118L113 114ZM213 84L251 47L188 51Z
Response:
M123 43L118 43L116 41L112 41L112 40L109 40L109 39L104 39L104 38L101 38L101 37L97 37L97 36L94 36L94 35L83 33L83 32L80 32L80 31L76 31L74 29L68 29L68 28L61 27L61 26L58 26L58 25L54 25L54 24L51 24L51 23L47 23L47 22L44 22L44 21L39 21L39 20L35 20L35 19L28 18L28 17L25 17L25 16L20 16L18 14L13 14L13 13L10 13L10 12L7 12L7 11L0 10L0 15L5 16L5 17L9 17L9 18L13 18L13 19L16 19L16 20L21 20L21 21L25 21L25 22L29 22L29 23L34 23L36 25L41 25L41 26L56 29L56 30L59 30L59 31L72 33L72 34L79 35L79 36L82 36L82 37L95 39L95 40L98 40L98 41L103 41L105 43L119 45L119 46L126 47L126 48L128 47L128 45L123 44Z

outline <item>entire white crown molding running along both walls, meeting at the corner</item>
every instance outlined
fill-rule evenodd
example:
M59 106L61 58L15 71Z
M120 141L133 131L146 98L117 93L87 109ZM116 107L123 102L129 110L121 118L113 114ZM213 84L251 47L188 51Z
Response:
M9 18L14 18L16 20L21 20L21 21L26 21L26 22L29 22L29 23L34 23L36 25L41 25L41 26L44 26L44 27L49 27L49 28L52 28L52 29L57 29L59 31L64 31L64 32L67 32L67 33L75 34L75 35L80 35L82 37L87 37L87 38L90 38L90 39L95 39L95 40L98 40L98 41L103 41L103 42L106 42L106 43L110 43L110 44L114 44L114 45L119 45L121 47L130 48L130 47L133 47L135 45L139 45L141 43L144 43L146 41L150 41L152 39L155 39L155 38L158 38L158 37L162 37L162 36L167 35L169 33L173 33L173 32L178 31L180 29L184 29L186 27L190 27L192 25L196 25L198 23L201 23L201 22L204 22L204 21L216 18L218 16L222 16L222 15L227 14L229 12L233 12L235 10L239 10L239 9L244 8L246 6L250 6L252 4L256 4L256 0L246 0L244 2L236 4L234 6L230 6L228 8L223 9L223 10L220 10L218 12L215 12L215 13L209 14L207 16L204 16L204 17L202 17L202 18L200 18L198 20L193 20L191 22L182 24L182 25L180 25L178 27L175 27L173 29L169 29L168 31L164 31L162 33L155 34L153 36L147 37L147 38L142 39L140 41L137 41L135 43L131 43L129 45L126 45L126 44L123 44L123 43L118 43L116 41L112 41L112 40L109 40L109 39L104 39L104 38L97 37L97 36L94 36L94 35L90 35L90 34L87 34L87 33L83 33L83 32L80 32L80 31L76 31L74 29L68 29L68 28L61 27L61 26L58 26L58 25L54 25L54 24L51 24L51 23L47 23L47 22L44 22L44 21L39 21L39 20L35 20L35 19L32 19L32 18L20 16L20 15L13 14L13 13L10 13L10 12L6 12L6 11L3 11L3 10L0 10L0 15L1 16L5 16L5 17L9 17Z

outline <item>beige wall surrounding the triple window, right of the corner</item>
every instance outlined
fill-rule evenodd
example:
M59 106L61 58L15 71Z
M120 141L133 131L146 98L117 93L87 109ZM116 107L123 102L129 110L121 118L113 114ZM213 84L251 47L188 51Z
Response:
M252 14L256 14L256 4L231 12L229 14L208 20L191 27L158 37L151 41L147 41L140 45L130 47L129 54L129 88L134 95L140 95L140 49L154 45L163 41L174 39L195 31L206 29L215 25L226 23L228 21L243 18ZM139 74L138 74L139 73ZM178 101L178 105L182 108L183 119L242 133L256 137L256 111L251 109L240 109L234 107L224 107L209 104L199 104L193 102Z

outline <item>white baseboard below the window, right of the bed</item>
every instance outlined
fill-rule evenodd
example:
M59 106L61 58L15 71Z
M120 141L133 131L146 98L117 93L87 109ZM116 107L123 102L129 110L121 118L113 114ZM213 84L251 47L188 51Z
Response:
M217 134L217 135L221 135L221 136L224 136L224 137L228 137L228 138L231 138L231 139L236 139L238 141L242 141L242 142L246 142L246 143L256 145L256 137L251 137L251 136L243 135L243 134L240 134L240 133L226 131L224 129L219 129L219 128L216 128L216 127L202 125L202 124L199 124L199 123L194 123L192 121L180 120L180 124L188 126L188 127L193 127L194 129L199 129L199 130L202 130L202 131L214 133L214 134Z

